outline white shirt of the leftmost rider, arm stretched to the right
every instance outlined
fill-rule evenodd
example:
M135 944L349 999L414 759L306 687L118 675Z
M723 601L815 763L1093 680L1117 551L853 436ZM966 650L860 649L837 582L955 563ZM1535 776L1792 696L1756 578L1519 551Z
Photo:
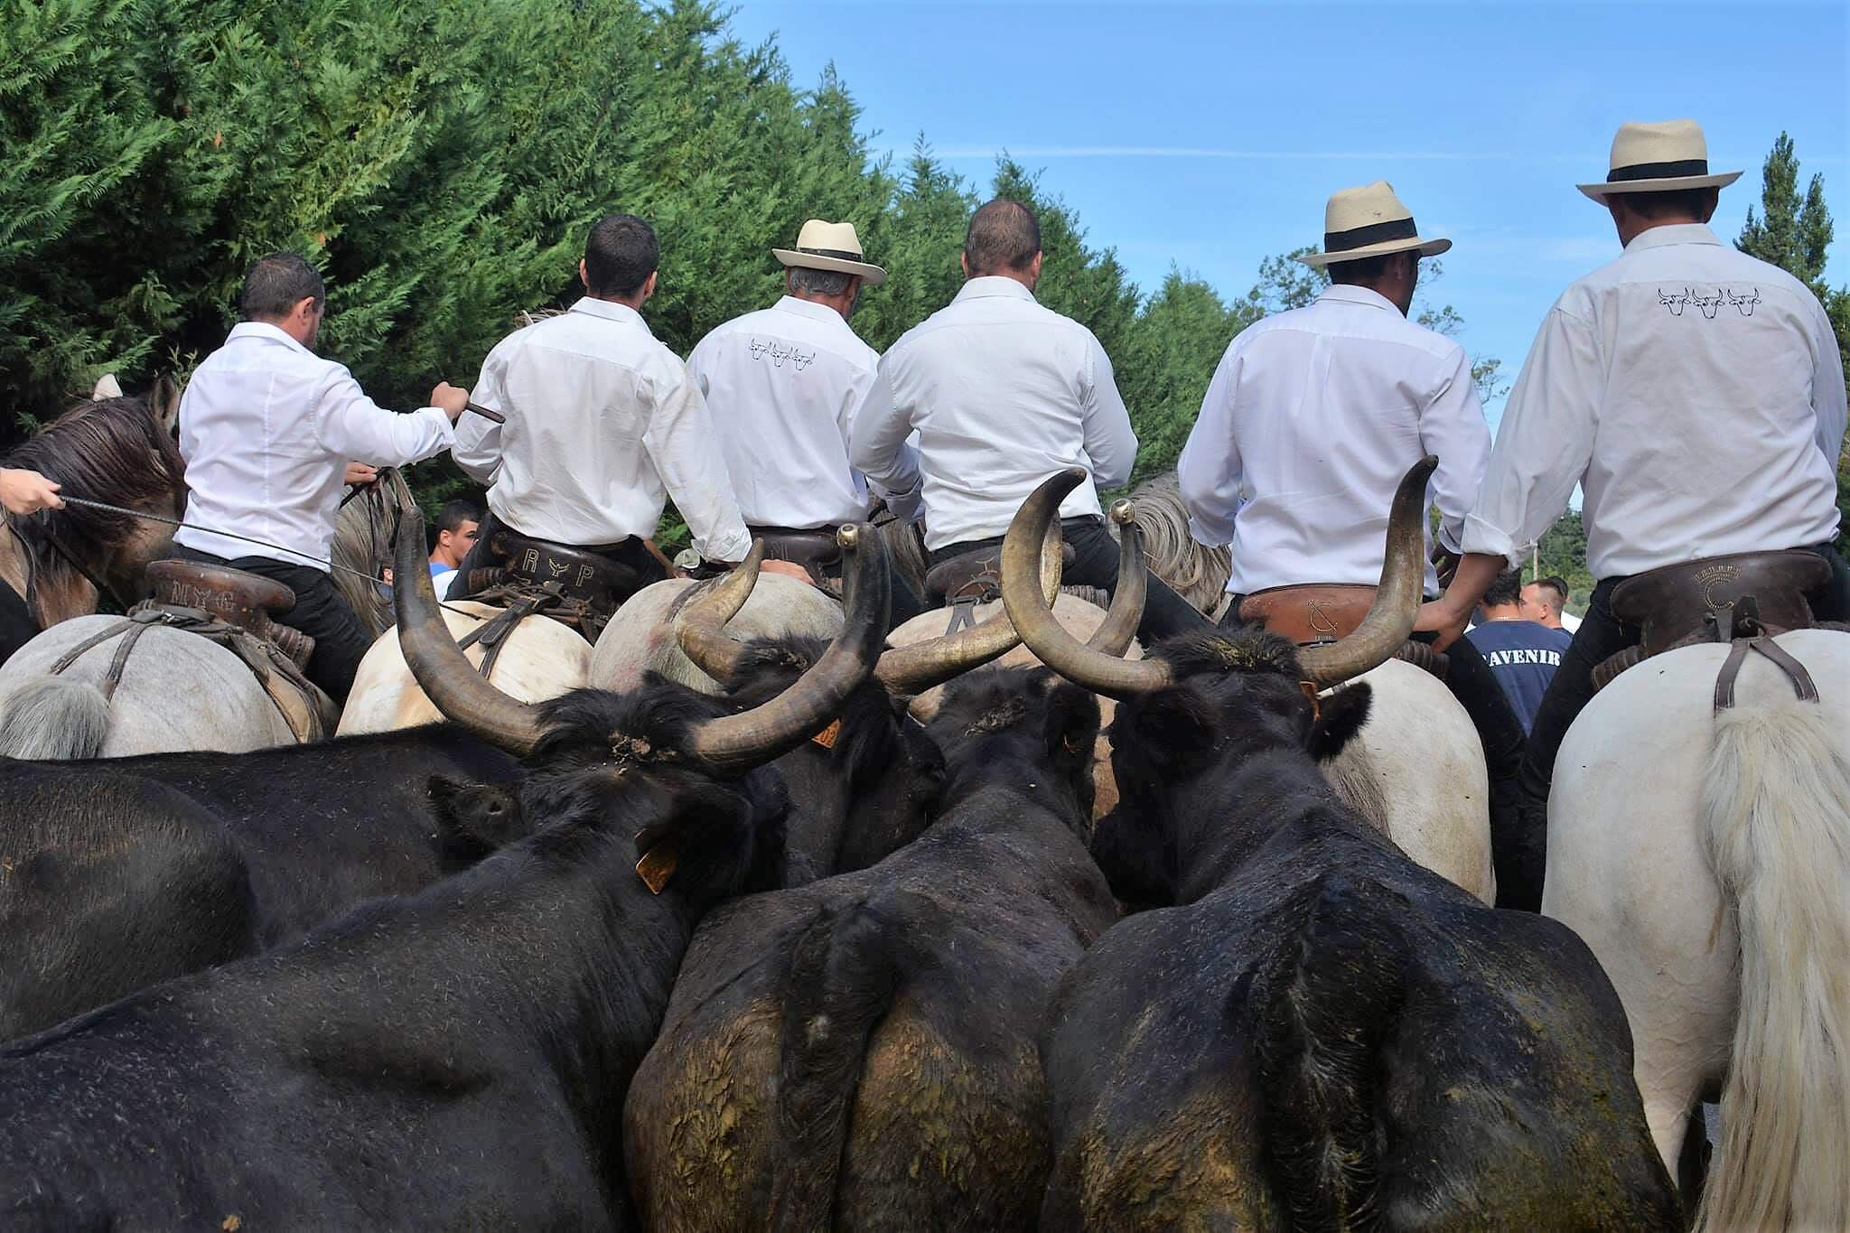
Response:
M276 325L242 322L179 399L187 521L278 547L192 527L174 540L215 556L268 556L326 573L346 464L403 466L451 440L440 409L385 410L342 364Z

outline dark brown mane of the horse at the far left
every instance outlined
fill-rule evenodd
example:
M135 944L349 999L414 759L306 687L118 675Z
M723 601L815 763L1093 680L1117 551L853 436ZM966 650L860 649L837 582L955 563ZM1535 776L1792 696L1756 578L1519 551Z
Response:
M161 508L185 488L187 464L146 399L104 397L78 403L37 436L13 449L6 466L28 468L63 486L65 495L107 501L131 510ZM31 518L6 516L13 531L39 547L48 534L63 543L120 543L139 519L67 505ZM41 568L67 571L61 556Z

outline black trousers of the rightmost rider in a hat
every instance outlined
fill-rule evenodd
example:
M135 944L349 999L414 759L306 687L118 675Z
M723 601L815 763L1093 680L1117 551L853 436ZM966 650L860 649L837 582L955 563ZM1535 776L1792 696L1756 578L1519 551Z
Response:
M1804 549L1817 553L1832 568L1832 580L1824 593L1815 597L1811 616L1820 621L1850 621L1850 566L1830 543ZM1643 632L1613 616L1613 590L1626 579L1604 579L1593 588L1587 601L1587 614L1580 617L1574 641L1561 656L1561 665L1548 680L1548 691L1541 695L1536 708L1536 723L1528 730L1528 751L1523 756L1519 775L1523 830L1524 830L1524 880L1534 880L1539 887L1548 858L1548 786L1554 780L1554 758L1561 752L1561 739L1585 704L1593 701L1593 669L1626 647L1635 647ZM1454 643L1456 647L1456 643Z

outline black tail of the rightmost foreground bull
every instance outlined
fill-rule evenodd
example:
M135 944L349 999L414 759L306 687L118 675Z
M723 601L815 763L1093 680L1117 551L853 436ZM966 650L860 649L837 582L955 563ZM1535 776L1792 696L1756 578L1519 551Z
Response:
M1297 935L1252 993L1260 1154L1295 1227L1360 1229L1380 1216L1375 1083L1410 952L1395 906L1369 889L1341 873L1319 878ZM1249 982L1228 1013L1254 1013Z

